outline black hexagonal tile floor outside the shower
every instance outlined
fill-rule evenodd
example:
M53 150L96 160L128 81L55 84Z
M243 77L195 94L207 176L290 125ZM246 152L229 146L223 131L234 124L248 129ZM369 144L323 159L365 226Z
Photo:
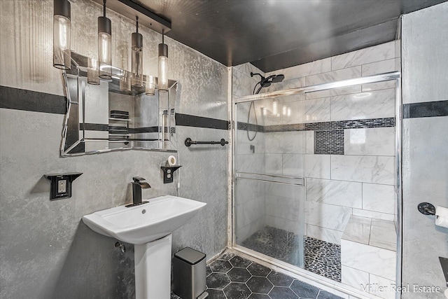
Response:
M233 253L207 265L207 292L209 299L341 299Z

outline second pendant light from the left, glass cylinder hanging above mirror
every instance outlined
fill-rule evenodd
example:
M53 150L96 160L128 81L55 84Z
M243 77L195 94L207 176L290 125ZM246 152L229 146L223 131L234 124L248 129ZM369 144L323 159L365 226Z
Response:
M98 17L98 60L99 77L112 79L112 24L111 20L106 18L106 0L103 2L103 16Z

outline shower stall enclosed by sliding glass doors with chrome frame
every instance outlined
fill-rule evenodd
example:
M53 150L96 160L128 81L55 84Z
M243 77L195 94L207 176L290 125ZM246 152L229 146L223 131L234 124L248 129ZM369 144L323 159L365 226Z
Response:
M234 97L233 247L399 298L400 107L399 72Z

